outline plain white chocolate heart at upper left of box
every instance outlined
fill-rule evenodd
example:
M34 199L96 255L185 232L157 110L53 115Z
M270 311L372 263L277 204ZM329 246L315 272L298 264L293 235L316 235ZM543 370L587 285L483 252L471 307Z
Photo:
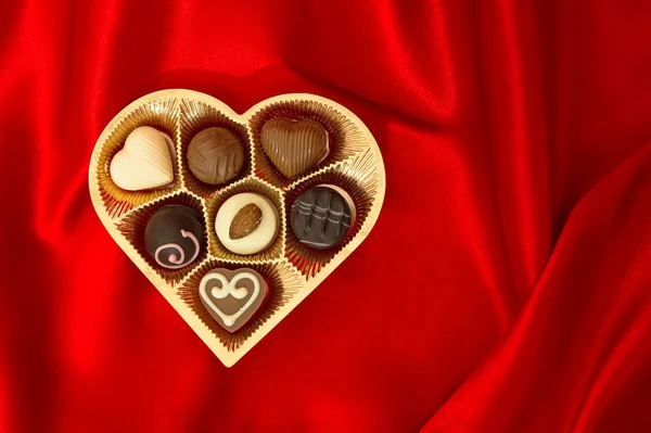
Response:
M169 140L169 142L168 142ZM127 137L111 161L111 178L123 190L161 188L174 180L170 139L151 126L140 126Z

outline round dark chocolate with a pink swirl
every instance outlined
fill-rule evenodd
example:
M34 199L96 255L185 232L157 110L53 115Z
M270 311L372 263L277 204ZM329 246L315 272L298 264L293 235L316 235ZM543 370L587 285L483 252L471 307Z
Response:
M158 265L183 268L199 257L204 244L201 216L187 206L163 206L146 222L144 244Z

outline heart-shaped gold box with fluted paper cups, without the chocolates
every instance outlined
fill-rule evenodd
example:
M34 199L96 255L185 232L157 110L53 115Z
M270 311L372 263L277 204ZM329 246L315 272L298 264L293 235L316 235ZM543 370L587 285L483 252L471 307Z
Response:
M263 125L276 117L319 122L330 137L328 157L297 179L283 177L260 144ZM110 163L124 147L127 136L144 125L173 139L175 180L166 189L125 191L111 179ZM225 186L201 182L186 161L192 137L212 126L234 132L246 151L240 175ZM106 126L92 152L88 181L93 206L108 233L227 367L244 356L359 246L378 220L385 192L382 155L365 124L342 105L306 93L270 98L244 114L237 114L224 102L192 90L170 89L148 94L129 104ZM347 191L355 203L357 218L341 245L312 250L296 239L289 227L288 215L298 194L321 183ZM281 219L279 235L271 246L250 256L226 250L214 229L219 206L240 192L266 195L279 209ZM183 204L200 212L207 239L207 249L202 249L199 258L177 270L157 266L144 247L146 221L167 204ZM253 268L265 277L271 292L264 309L233 333L221 328L199 298L201 279L218 267Z

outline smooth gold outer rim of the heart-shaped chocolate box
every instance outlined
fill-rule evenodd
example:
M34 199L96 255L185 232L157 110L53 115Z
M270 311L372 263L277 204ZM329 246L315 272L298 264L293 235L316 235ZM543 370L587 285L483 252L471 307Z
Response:
M188 304L177 294L177 289L168 284L161 276L158 276L145 260L140 257L136 249L127 241L125 237L120 234L115 222L116 218L112 218L101 198L100 186L95 176L97 166L99 162L99 155L102 143L106 141L111 132L127 117L133 110L143 104L148 104L154 101L162 101L168 99L193 99L200 102L204 102L208 105L216 107L225 115L231 117L235 122L241 122L250 125L251 117L267 105L271 105L277 102L292 102L292 101L315 101L329 105L337 110L345 117L350 119L365 135L366 142L373 153L375 161L375 168L378 171L378 191L375 200L372 203L371 209L367 216L363 227L360 228L359 232L342 247L341 252L330 260L326 266L321 268L318 275L306 280L304 286L297 293L295 293L289 302L280 307L276 314L271 315L265 323L263 323L252 335L246 339L235 351L229 351L222 345L222 343L215 336L208 327L203 323L199 317L192 311ZM327 98L319 97L310 93L286 93L277 97L272 97L260 101L253 105L243 114L235 113L226 103L208 94L197 92L188 89L167 89L156 91L146 94L138 100L131 102L125 109L123 109L110 123L106 125L100 137L98 138L89 164L89 190L93 207L100 217L100 220L106 228L106 231L119 245L119 247L127 254L127 256L136 264L136 266L142 271L142 273L154 284L154 286L161 292L161 294L169 302L175 310L186 320L190 328L202 339L202 341L210 348L210 351L219 358L219 360L226 367L232 367L238 360L240 360L248 351L251 351L267 333L269 333L286 315L289 315L301 302L308 296L328 276L341 265L353 251L355 251L361 242L368 237L373 226L378 221L382 204L384 203L384 195L386 192L386 173L384 169L384 162L378 142L373 138L371 131L367 126L345 106L331 101ZM182 188L186 190L186 188ZM286 257L281 262L289 264ZM292 266L291 264L289 264ZM179 285L183 284L181 281Z

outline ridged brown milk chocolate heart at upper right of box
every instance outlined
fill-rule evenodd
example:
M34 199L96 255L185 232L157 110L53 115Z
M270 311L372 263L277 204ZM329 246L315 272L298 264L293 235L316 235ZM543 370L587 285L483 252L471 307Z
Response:
M263 126L263 149L276 168L290 179L328 156L328 131L319 123L278 117Z

